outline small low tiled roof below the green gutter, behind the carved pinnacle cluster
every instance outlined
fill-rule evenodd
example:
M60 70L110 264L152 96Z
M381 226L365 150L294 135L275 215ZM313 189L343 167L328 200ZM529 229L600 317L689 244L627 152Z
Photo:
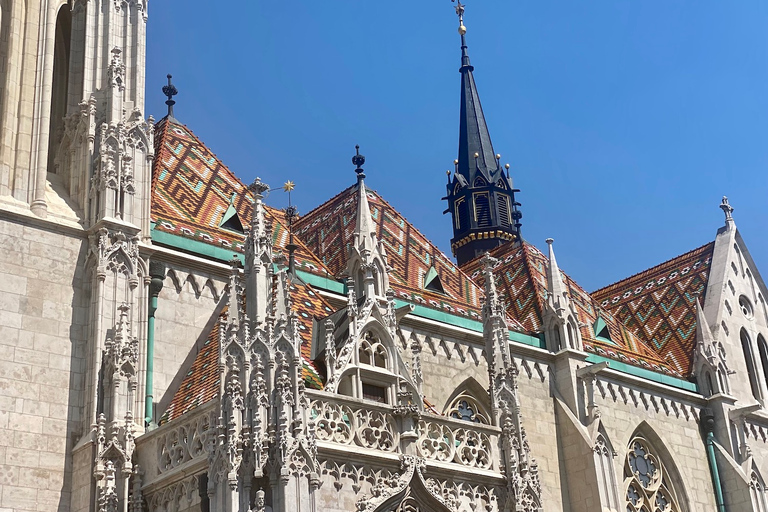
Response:
M300 280L292 282L290 290L293 309L299 319L301 355L304 363L302 377L307 387L322 389L320 374L309 359L312 349L312 328L314 320L328 316L332 313L332 309L310 285ZM226 321L227 309L227 307L224 308L208 334L203 348L197 353L168 409L163 413L160 423L174 420L216 397L219 391L219 329L222 322Z

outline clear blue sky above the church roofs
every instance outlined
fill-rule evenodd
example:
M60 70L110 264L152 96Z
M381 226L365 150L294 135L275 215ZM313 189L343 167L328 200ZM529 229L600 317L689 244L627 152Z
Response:
M714 239L728 195L768 279L768 2L467 0L494 148L523 235L587 290ZM150 3L147 113L307 212L366 183L450 254L459 37L448 0ZM282 194L270 201L285 206Z

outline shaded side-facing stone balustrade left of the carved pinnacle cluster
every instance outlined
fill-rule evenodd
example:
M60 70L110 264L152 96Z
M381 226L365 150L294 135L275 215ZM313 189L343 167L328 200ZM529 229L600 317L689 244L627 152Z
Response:
M205 464L215 442L217 410L212 401L136 439L145 485Z

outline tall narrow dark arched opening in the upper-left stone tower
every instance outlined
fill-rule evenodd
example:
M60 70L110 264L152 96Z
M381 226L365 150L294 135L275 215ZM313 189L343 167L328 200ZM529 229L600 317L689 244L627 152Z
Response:
M72 11L65 4L56 17L56 35L53 47L53 85L51 90L51 119L48 132L48 172L55 172L54 159L67 115L67 87L69 85L69 47L72 35Z

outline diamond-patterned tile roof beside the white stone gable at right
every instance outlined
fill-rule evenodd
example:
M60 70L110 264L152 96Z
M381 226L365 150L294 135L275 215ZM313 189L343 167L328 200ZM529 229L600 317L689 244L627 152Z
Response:
M687 376L696 343L696 297L704 302L714 248L710 242L601 288L592 297Z

